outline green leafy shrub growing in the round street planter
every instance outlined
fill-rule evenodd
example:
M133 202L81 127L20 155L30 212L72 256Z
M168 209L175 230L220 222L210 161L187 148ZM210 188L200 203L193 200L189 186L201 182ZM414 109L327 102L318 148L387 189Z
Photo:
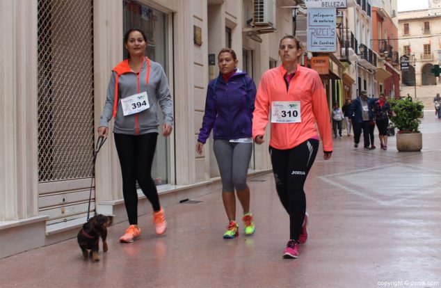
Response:
M419 133L418 127L421 121L418 119L422 115L424 105L422 102L412 99L389 99L393 115L390 118L398 133Z

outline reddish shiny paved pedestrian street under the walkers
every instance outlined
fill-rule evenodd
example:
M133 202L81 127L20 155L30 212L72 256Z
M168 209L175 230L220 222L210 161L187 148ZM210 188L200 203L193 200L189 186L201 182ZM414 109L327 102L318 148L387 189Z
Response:
M394 136L380 150L376 135L376 150L343 136L330 161L318 154L305 186L310 239L298 259L282 259L288 217L268 173L249 182L252 237L222 238L227 218L220 193L210 193L166 207L163 237L151 215L140 217L134 243L118 242L127 223L110 227L98 263L82 259L76 239L1 259L0 286L441 287L441 120L433 111L421 131L422 152L396 152Z

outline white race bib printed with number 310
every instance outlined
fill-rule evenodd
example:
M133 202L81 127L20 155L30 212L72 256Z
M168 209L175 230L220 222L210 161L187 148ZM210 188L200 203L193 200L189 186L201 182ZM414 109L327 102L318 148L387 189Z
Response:
M271 123L298 123L300 101L275 101L271 103Z

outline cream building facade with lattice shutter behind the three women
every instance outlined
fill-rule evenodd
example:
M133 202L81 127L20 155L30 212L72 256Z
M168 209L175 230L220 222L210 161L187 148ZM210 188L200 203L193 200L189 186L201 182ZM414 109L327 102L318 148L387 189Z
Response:
M93 152L111 70L126 56L122 36L132 27L147 34L147 56L163 66L175 105L173 135L159 136L152 172L162 204L220 191L212 141L195 153L218 51L234 49L258 84L279 63L280 38L292 34L294 1L257 2L0 1L8 27L0 55L0 243L15 243L2 245L9 248L0 257L74 237L90 194L92 211L126 220L113 137L95 168ZM250 173L270 168L266 147L256 145ZM139 198L139 214L150 213Z

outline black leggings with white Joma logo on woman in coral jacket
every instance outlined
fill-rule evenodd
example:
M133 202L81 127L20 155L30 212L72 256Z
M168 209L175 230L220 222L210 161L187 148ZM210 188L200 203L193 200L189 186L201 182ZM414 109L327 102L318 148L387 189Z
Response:
M289 239L298 241L306 211L306 196L303 191L307 174L314 163L319 141L309 139L300 145L278 150L269 147L275 179L275 189L280 202L289 214Z

